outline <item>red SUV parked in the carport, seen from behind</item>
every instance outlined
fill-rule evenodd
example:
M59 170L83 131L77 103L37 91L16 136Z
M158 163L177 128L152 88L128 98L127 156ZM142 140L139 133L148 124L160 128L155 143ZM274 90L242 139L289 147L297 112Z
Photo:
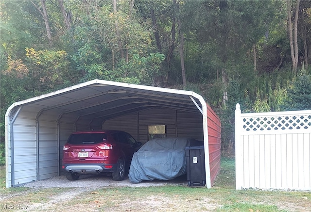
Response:
M74 132L63 147L62 168L69 180L77 180L81 174L109 172L114 180L120 181L140 146L140 142L123 131Z

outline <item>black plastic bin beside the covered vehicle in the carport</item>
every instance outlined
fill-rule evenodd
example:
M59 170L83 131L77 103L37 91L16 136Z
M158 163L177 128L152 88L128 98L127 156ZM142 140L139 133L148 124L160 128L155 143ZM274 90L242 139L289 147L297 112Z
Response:
M185 155L188 185L204 186L206 184L204 146L185 147Z

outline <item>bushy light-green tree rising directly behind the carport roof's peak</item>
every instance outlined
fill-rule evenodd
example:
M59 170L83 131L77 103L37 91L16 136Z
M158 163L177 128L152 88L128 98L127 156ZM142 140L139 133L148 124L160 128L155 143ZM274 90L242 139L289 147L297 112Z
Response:
M157 73L155 69L159 69L158 61L163 60L161 54L154 53L152 31L141 24L136 13L129 16L131 5L127 2L118 2L118 11L113 6L107 1L90 1L89 15L86 8L81 8L77 14L80 21L73 30L77 50L71 58L84 75L82 81L104 79L149 84L152 74Z

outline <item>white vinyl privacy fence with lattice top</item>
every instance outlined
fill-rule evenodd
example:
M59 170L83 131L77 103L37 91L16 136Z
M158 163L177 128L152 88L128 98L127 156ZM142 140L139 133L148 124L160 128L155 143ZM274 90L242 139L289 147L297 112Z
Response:
M311 110L235 111L236 189L311 190Z

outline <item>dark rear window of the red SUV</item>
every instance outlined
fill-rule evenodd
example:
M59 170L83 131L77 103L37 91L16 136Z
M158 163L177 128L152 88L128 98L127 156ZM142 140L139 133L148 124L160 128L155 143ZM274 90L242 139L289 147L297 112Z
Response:
M105 133L81 133L71 134L68 138L68 143L73 145L83 144L98 144L107 140Z

